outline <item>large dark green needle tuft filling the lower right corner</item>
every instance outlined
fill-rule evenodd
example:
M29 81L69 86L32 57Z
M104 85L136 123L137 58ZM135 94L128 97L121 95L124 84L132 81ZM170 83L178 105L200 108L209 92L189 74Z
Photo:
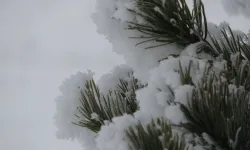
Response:
M181 109L191 132L210 135L227 150L247 150L250 142L249 92L230 91L229 84L209 75Z

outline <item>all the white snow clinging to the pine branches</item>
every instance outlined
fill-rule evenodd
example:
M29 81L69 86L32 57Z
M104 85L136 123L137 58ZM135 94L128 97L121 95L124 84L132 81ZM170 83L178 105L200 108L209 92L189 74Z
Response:
M119 79L129 80L128 74L133 72L137 79L147 85L136 91L140 109L134 116L124 114L113 118L112 122L101 127L98 134L73 125L71 122L75 121L74 114L77 113L80 90L84 88L87 80L93 78L92 72L78 72L63 82L60 87L61 96L56 99L55 124L58 128L58 137L77 139L84 147L91 150L128 150L125 130L138 121L143 125L154 117L165 117L177 125L187 121L180 110L180 104L187 105L194 86L181 83L180 66L183 70L190 67L192 81L194 85L198 85L207 67L207 59L210 57L202 55L202 59L197 58L200 57L197 54L197 44L202 43L191 44L185 49L170 44L145 50L146 46L153 44L150 42L148 45L135 46L140 41L129 37L139 36L139 33L125 29L128 27L128 21L143 22L141 18L127 10L134 9L134 3L135 0L97 0L96 12L92 18L97 25L97 32L106 37L112 44L113 51L123 55L127 63L115 67L100 78L98 81L100 91L105 94L109 90L116 89ZM221 37L220 29L225 26L226 23L219 26L209 23L208 29L213 36ZM180 56L175 58L170 54L180 54ZM224 63L224 61L215 62L214 71L219 73ZM92 117L97 116L92 114ZM196 146L194 149L201 148Z

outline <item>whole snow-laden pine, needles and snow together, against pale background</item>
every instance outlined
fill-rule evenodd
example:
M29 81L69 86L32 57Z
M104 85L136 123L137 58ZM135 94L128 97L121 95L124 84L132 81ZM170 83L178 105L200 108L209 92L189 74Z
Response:
M97 0L100 34L124 56L98 82L66 79L60 138L91 150L249 150L250 43L194 0Z

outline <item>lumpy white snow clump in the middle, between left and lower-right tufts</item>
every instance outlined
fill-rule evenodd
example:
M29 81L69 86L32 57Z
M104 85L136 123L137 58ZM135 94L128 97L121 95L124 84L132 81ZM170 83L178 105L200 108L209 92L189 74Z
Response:
M152 115L153 117L165 116L173 120L174 123L185 122L179 106L173 106L172 104L174 101L187 104L188 96L192 96L194 87L182 85L179 74L179 62L185 69L191 60L193 63L191 64L190 73L194 83L198 84L206 67L204 61L190 56L169 57L161 61L158 67L150 70L147 87L136 92L140 106L139 112ZM176 109L175 112L171 113L174 109Z

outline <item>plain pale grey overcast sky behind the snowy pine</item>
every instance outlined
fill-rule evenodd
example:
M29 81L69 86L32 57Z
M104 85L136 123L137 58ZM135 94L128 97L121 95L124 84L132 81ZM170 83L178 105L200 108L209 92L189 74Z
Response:
M53 125L61 81L92 69L97 77L122 57L96 33L94 0L0 0L0 149L80 150L57 140ZM248 31L250 22L207 0L208 20Z

